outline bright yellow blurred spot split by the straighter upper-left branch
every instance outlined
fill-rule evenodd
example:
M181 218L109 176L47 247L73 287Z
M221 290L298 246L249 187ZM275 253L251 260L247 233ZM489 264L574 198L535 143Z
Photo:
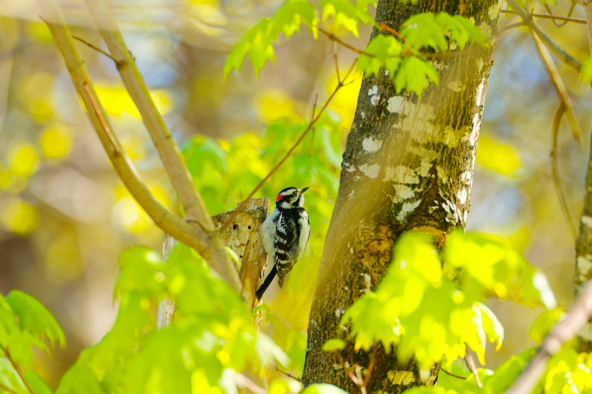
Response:
M95 83L96 95L99 97L105 111L108 115L122 116L124 114L140 118L140 113L136 108L127 90L122 86L110 86ZM173 97L165 89L155 89L150 92L150 96L156 105L156 109L161 115L170 112L173 108Z

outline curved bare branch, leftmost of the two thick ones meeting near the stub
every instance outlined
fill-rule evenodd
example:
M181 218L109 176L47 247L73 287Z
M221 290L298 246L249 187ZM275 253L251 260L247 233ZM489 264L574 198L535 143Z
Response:
M175 216L150 193L120 142L114 133L110 133L112 128L107 114L96 96L88 71L78 52L78 48L74 45L59 8L57 8L53 0L38 0L38 5L56 41L57 48L64 58L72 82L84 103L86 113L99 137L99 141L101 141L107 156L111 160L115 172L126 185L131 196L154 220L157 226L175 237L175 239L197 250L215 271L220 273L233 288L240 291L241 286L236 269L232 266L218 233L215 230L212 233L204 232L194 223ZM210 220L209 217L208 220Z

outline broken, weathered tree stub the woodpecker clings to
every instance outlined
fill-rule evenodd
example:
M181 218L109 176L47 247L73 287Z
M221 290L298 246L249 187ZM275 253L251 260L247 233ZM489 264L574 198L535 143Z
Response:
M239 205L237 205L238 207ZM224 212L212 216L216 229L230 217L234 211ZM240 259L239 271L240 282L243 286L243 297L253 309L260 304L255 297L255 289L262 276L263 267L266 265L268 256L259 242L259 227L269 214L269 198L252 198L244 204L239 214L234 217L230 226L227 226L221 233L224 245L233 250ZM163 261L169 255L170 250L175 246L176 240L165 233L163 240L162 256ZM197 301L197 300L196 300ZM172 299L165 298L159 302L157 328L163 328L172 321L175 314L175 304ZM260 329L260 313L255 317L255 326Z

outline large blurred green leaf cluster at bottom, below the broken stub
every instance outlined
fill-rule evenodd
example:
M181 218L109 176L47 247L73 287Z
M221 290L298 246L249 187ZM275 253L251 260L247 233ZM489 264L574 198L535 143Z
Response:
M188 246L178 243L166 264L137 246L120 256L115 284L119 311L102 340L81 353L57 393L236 391L235 376L288 356L257 333L240 295ZM159 299L175 299L173 322L155 331Z

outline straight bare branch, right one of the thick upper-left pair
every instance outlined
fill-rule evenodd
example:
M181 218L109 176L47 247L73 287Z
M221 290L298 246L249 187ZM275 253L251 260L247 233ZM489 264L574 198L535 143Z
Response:
M187 219L200 224L206 232L213 233L215 231L214 224L209 220L204 202L195 190L191 174L181 157L179 147L173 141L165 121L156 109L146 83L137 69L136 61L121 37L117 23L108 13L102 0L85 0L85 4L94 18L112 58L118 59L115 61L115 66L121 75L121 80L142 116L160 160L169 175L170 182L185 209Z

